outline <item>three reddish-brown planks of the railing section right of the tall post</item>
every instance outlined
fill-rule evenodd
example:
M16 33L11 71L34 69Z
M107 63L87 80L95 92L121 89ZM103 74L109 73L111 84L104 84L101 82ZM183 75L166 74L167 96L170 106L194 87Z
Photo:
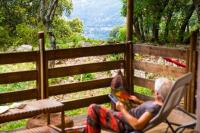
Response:
M149 55L156 57L172 57L182 59L185 60L185 62L188 62L188 49L166 48L144 44L135 44L133 49L134 53L138 53L141 55ZM179 77L187 72L186 68L173 67L169 65L160 65L156 63L148 63L142 61L134 61L133 66L134 69L137 70L142 70L147 73L154 73L159 74L160 76L167 76L173 78ZM154 88L153 80L134 77L134 81L135 85L143 86L150 89Z

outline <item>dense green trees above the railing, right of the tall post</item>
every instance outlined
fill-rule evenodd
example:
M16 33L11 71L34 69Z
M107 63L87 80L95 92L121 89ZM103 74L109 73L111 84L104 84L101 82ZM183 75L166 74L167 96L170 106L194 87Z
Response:
M127 14L127 0L121 0L122 16ZM134 36L141 41L185 42L198 27L192 0L135 0ZM190 16L190 12L193 15ZM158 40L155 40L158 32ZM183 35L183 40L181 36Z

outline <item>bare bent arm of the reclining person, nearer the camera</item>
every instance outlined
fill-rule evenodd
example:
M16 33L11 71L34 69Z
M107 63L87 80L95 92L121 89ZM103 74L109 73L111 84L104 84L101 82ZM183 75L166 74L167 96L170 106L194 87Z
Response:
M144 129L144 127L149 123L149 121L153 117L150 112L145 112L139 119L137 119L130 115L129 112L125 109L124 105L120 102L117 102L116 108L122 113L126 122L135 130Z

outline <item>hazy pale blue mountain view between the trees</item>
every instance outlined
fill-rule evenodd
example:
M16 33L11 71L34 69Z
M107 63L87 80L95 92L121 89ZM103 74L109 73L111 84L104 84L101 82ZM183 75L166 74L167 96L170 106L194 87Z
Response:
M107 39L116 25L122 25L120 0L73 0L70 18L80 17L84 34L92 39Z

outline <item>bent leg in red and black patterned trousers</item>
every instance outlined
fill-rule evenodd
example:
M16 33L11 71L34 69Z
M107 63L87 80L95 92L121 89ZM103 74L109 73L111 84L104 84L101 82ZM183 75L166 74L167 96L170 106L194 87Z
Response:
M123 127L117 117L121 118L121 113L114 113L99 105L92 104L88 107L86 130L88 133L100 133L101 127L103 127L115 132L120 132Z

